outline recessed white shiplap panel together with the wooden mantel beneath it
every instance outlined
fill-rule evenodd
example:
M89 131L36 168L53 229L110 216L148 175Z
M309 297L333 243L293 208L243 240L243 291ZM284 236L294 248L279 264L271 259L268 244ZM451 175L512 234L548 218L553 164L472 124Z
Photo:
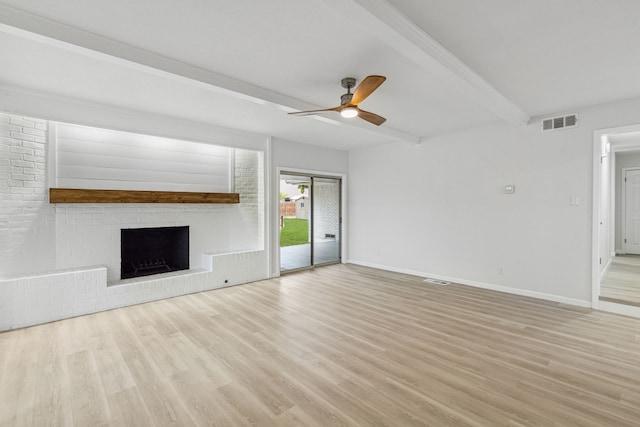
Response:
M50 126L51 203L240 203L233 192L237 149L68 123Z

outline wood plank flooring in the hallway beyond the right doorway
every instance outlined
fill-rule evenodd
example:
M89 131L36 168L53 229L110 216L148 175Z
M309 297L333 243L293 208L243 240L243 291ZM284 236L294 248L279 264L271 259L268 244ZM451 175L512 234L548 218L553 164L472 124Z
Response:
M640 306L640 255L611 260L600 282L600 300Z

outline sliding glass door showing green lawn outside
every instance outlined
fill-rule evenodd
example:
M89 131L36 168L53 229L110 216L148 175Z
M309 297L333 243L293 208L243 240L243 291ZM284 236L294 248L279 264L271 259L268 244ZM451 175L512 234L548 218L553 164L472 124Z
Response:
M342 180L280 172L280 272L341 262Z

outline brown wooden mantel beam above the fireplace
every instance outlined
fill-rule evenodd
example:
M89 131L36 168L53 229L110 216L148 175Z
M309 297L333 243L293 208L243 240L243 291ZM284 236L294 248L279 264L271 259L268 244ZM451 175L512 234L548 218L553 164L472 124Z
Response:
M50 188L49 203L240 203L238 193Z

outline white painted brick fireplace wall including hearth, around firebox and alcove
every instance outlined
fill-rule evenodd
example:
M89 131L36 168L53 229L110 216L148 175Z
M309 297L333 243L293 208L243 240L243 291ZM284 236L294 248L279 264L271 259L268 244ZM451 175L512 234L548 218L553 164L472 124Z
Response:
M47 146L46 121L0 113L0 330L267 277L262 153L235 150L238 205L50 205ZM119 282L120 229L177 225L192 270Z

